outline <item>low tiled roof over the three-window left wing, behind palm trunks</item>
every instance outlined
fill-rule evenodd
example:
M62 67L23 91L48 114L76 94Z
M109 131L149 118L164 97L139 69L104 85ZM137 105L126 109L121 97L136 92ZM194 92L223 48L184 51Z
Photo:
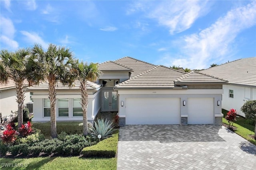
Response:
M44 82L39 84L39 86L30 86L27 88L28 91L34 91L34 90L48 90L49 83ZM102 84L94 83L94 82L88 82L87 84L87 90L93 90L98 91L101 88ZM63 85L61 82L56 83L56 90L79 90L80 87L80 81L75 81L74 86L69 87L66 85Z

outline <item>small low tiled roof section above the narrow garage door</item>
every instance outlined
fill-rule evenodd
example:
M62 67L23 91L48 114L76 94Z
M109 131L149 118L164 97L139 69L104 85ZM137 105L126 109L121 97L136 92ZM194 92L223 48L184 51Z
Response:
M174 80L175 84L184 85L184 84L226 84L227 80L222 78L216 78L214 76L209 76L204 73L197 71L192 71L187 74L184 74L177 80Z

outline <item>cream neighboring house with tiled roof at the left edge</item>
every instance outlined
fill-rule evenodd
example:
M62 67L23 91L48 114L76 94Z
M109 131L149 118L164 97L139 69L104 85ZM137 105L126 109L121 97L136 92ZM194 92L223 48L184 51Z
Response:
M26 87L27 86L24 86L24 88ZM0 112L2 113L2 117L18 111L18 103L16 102L16 99L14 81L9 80L7 84L0 84ZM30 102L30 92L25 92L24 106Z

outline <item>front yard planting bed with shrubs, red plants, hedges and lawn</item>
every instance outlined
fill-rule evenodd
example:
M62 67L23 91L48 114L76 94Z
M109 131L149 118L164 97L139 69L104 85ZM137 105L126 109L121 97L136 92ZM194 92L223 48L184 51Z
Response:
M57 129L62 132L55 139L44 139L44 135L50 135L50 123L34 123L34 129L28 122L23 126L23 131L18 129L19 136L13 133L13 140L5 133L5 138L1 137L1 168L116 169L118 130L108 138L102 134L99 142L95 134L84 137L79 124L80 122L57 122ZM7 129L9 132L16 131L12 127Z

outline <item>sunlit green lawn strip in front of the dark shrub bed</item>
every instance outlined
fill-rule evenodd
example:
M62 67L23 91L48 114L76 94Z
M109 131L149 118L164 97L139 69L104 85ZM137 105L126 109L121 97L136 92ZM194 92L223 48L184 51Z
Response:
M116 158L80 158L73 157L39 157L39 158L0 158L2 169L13 170L116 170ZM3 167L4 164L12 163L11 166ZM10 164L9 164L10 165ZM27 166L27 167L25 167Z

